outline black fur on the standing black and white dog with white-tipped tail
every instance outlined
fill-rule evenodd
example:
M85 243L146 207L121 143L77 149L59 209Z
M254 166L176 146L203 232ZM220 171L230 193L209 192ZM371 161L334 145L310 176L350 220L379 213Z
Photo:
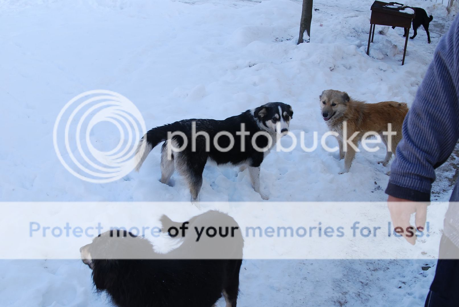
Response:
M284 113L286 114L285 116ZM273 125L281 119L285 122L289 122L292 115L293 111L290 105L281 102L272 102L264 104L254 110L247 110L241 115L231 116L225 120L189 119L153 128L146 133L140 142L136 153L136 156L139 157L136 169L140 169L141 164L151 148L154 148L158 143L168 139L169 132L182 132L188 140L187 146L184 150L180 151L180 153L173 153L171 158L175 164L178 164L178 166L176 166L180 174L184 175L188 180L192 200L195 200L202 186L202 172L207 163L207 159L211 159L217 164L247 164L255 168L260 167L265 153L261 150L257 150L257 148L268 149L269 144L274 145L277 141L276 130L273 130L272 126L270 127L268 124ZM196 148L192 148L193 124L196 124ZM244 136L244 141L241 140L241 134L237 134L237 132L241 132L241 124L244 125L245 132L249 132L248 135ZM208 147L206 137L199 135L199 132L206 132L209 136ZM218 132L229 132L233 137L235 142L231 148L229 148L230 138L228 136L220 135L218 137L218 147L229 148L228 151L222 151L214 145L214 138ZM257 138L255 139L256 148L252 145L252 138L257 132L268 132L268 135L257 134ZM145 145L143 144L145 141L149 145L148 148L145 146L142 147L142 145ZM180 148L185 142L184 137L180 135L171 137L171 142L172 141L177 143L176 147ZM163 155L167 152L166 148L167 143L164 143L162 145ZM242 148L244 148L244 150L242 150ZM165 168L169 169L169 166ZM162 169L161 182L167 184L170 175L172 174Z

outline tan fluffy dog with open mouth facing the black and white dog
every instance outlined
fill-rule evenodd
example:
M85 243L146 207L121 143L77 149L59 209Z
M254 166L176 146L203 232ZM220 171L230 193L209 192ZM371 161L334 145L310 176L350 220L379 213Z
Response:
M340 174L347 173L351 168L356 148L363 137L379 135L386 145L387 153L386 158L378 164L386 166L389 163L392 153L395 154L395 148L402 139L402 124L408 112L407 104L395 101L366 104L364 101L349 98L346 92L333 89L323 91L319 99L324 121L330 131L338 133L336 138L340 148L340 160L344 158L344 172ZM391 135L387 133L389 126ZM345 131L346 136L343 135Z

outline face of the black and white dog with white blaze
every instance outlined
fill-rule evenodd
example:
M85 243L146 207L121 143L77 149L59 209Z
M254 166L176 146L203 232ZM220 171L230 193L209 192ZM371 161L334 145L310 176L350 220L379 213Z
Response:
M253 115L261 129L283 136L289 132L293 110L288 104L270 102L255 109Z

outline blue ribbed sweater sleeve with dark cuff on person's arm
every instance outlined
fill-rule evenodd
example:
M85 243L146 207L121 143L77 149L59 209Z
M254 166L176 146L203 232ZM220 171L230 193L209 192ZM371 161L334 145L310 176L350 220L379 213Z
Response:
M403 122L386 193L430 201L434 169L453 152L459 137L459 18L435 50Z

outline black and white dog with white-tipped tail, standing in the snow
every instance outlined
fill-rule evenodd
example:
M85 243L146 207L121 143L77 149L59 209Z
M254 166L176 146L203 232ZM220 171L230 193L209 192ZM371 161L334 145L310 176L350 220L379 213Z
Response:
M136 170L151 149L166 141L161 148L160 181L168 184L177 169L188 181L192 202L201 190L207 159L241 165L241 170L248 166L253 189L268 199L260 192L260 164L277 140L289 132L292 116L290 105L271 102L222 121L190 119L153 128L140 140Z

